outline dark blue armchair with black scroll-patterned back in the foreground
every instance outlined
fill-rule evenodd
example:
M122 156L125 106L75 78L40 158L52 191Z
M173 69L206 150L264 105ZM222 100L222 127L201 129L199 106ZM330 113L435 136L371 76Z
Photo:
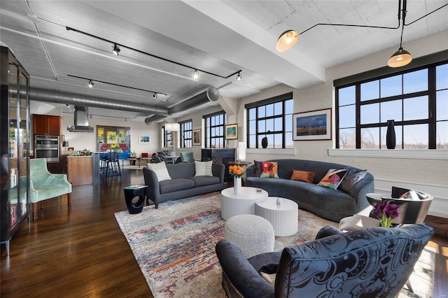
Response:
M248 260L235 243L216 254L228 297L397 297L433 228L372 227L342 232L325 226L316 240ZM260 272L276 274L274 285ZM334 296L333 296L334 295Z

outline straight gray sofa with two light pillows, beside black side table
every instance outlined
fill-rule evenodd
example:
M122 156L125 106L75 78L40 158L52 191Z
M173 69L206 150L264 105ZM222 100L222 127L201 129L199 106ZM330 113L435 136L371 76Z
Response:
M195 176L194 162L167 164L171 180L159 182L155 172L144 167L145 185L148 185L146 199L151 199L155 203L155 208L158 208L159 204L165 201L223 190L224 169L224 164L213 163L211 165L213 176Z

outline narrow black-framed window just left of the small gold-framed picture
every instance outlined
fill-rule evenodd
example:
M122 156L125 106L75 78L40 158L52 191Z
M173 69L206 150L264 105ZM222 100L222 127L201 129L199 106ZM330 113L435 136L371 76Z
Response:
M211 115L204 115L205 122L205 147L224 148L224 127L227 115L224 111Z

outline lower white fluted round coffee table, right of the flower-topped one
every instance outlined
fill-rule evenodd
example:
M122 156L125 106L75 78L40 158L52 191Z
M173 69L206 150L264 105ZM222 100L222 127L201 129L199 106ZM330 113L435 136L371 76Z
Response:
M269 220L275 236L290 236L297 233L299 206L290 199L268 197L266 201L255 203L255 215Z

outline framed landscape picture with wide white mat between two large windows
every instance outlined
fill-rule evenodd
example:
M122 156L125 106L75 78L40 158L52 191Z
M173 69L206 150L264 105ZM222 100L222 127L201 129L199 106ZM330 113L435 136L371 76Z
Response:
M331 140L331 108L293 115L293 141L314 140Z

